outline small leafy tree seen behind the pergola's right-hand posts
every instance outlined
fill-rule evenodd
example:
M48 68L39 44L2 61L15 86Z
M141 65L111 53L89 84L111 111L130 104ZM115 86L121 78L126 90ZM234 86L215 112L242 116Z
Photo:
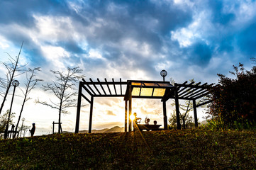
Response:
M194 79L189 80L191 83L196 84ZM171 83L174 84L174 80L171 79ZM189 91L188 91L189 92ZM192 95L193 93L191 93ZM204 103L207 100L208 96L204 96L202 98L199 98L196 100L196 106ZM171 103L172 106L175 106L175 102ZM206 105L204 106L200 106L201 108L205 108ZM191 115L189 115L190 111L193 111L194 107L193 107L193 102L191 102L191 100L186 100L184 101L184 103L179 103L179 116L181 118L181 125L184 129L188 128L188 125L192 123L191 120ZM182 111L182 112L181 112ZM174 111L175 113L176 111ZM176 114L176 113L175 113ZM175 123L177 123L177 120L173 120L174 116L172 116L171 118L169 118L169 123L173 123L175 121ZM175 119L176 119L176 115L175 115Z

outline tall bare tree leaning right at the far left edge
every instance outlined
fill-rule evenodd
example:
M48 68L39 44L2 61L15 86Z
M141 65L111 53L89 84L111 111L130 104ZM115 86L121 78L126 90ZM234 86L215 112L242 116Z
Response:
M23 42L21 44L21 49L22 49L22 47L23 47ZM7 72L6 72L6 79L0 78L0 87L1 87L1 89L4 89L4 91L1 91L1 93L0 93L0 95L4 97L3 101L1 103L0 115L1 115L1 111L4 108L4 103L6 101L6 97L9 94L11 82L13 81L14 77L17 77L18 75L24 73L22 68L25 67L25 65L18 66L18 60L21 55L21 49L20 49L20 52L18 52L18 56L16 56L16 58L11 57L11 55L9 55L9 53L6 52L6 54L9 55L9 62L1 62L1 64L3 64L4 67L7 69ZM23 71L23 72L21 72L21 71ZM21 73L16 74L16 72L21 72Z

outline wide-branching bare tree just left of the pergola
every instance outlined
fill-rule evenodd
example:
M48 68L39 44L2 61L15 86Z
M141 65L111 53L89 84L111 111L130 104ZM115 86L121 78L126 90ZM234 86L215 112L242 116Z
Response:
M53 102L50 100L50 103L46 101L36 100L35 103L40 103L45 106L50 106L51 108L55 108L59 111L59 128L58 132L60 133L60 117L61 113L68 113L66 111L67 108L77 106L77 100L74 99L74 96L77 96L77 92L74 91L75 83L79 81L79 79L84 78L84 75L79 75L82 73L82 69L79 67L67 68L67 73L59 72L59 71L50 71L52 74L55 74L56 81L52 81L52 84L43 85L44 91L52 92L58 99L58 102Z

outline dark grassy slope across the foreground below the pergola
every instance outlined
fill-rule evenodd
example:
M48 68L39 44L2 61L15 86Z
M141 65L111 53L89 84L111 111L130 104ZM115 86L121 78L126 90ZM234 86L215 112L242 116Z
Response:
M256 169L256 132L171 130L0 140L0 169Z

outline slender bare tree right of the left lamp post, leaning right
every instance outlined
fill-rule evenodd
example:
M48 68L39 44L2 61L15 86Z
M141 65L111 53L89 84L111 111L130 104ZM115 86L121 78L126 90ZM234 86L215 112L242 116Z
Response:
M22 103L22 106L21 106L21 112L20 112L20 115L18 116L18 122L16 124L16 130L18 129L18 123L20 123L20 120L21 120L21 113L23 112L23 108L25 106L25 103L26 101L30 100L31 98L28 97L28 95L30 94L30 92L35 88L35 85L38 84L38 81L43 81L42 79L35 79L35 72L38 72L40 71L40 67L36 67L34 69L28 69L28 72L26 73L26 79L27 79L27 82L26 82L26 91L24 92L22 89L22 93L24 95L24 98L23 98L23 103ZM13 133L13 134L16 134L16 133Z

